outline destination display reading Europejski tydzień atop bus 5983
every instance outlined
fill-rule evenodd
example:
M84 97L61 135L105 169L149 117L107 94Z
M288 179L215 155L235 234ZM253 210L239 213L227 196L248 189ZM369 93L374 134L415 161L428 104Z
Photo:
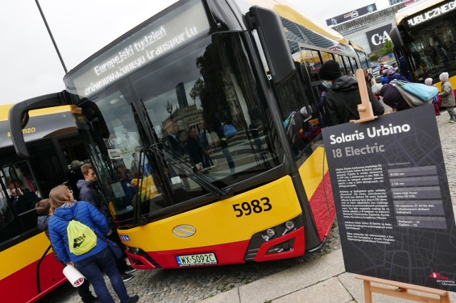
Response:
M65 79L68 91L81 97L90 96L208 31L209 21L202 2L190 1L70 73Z

